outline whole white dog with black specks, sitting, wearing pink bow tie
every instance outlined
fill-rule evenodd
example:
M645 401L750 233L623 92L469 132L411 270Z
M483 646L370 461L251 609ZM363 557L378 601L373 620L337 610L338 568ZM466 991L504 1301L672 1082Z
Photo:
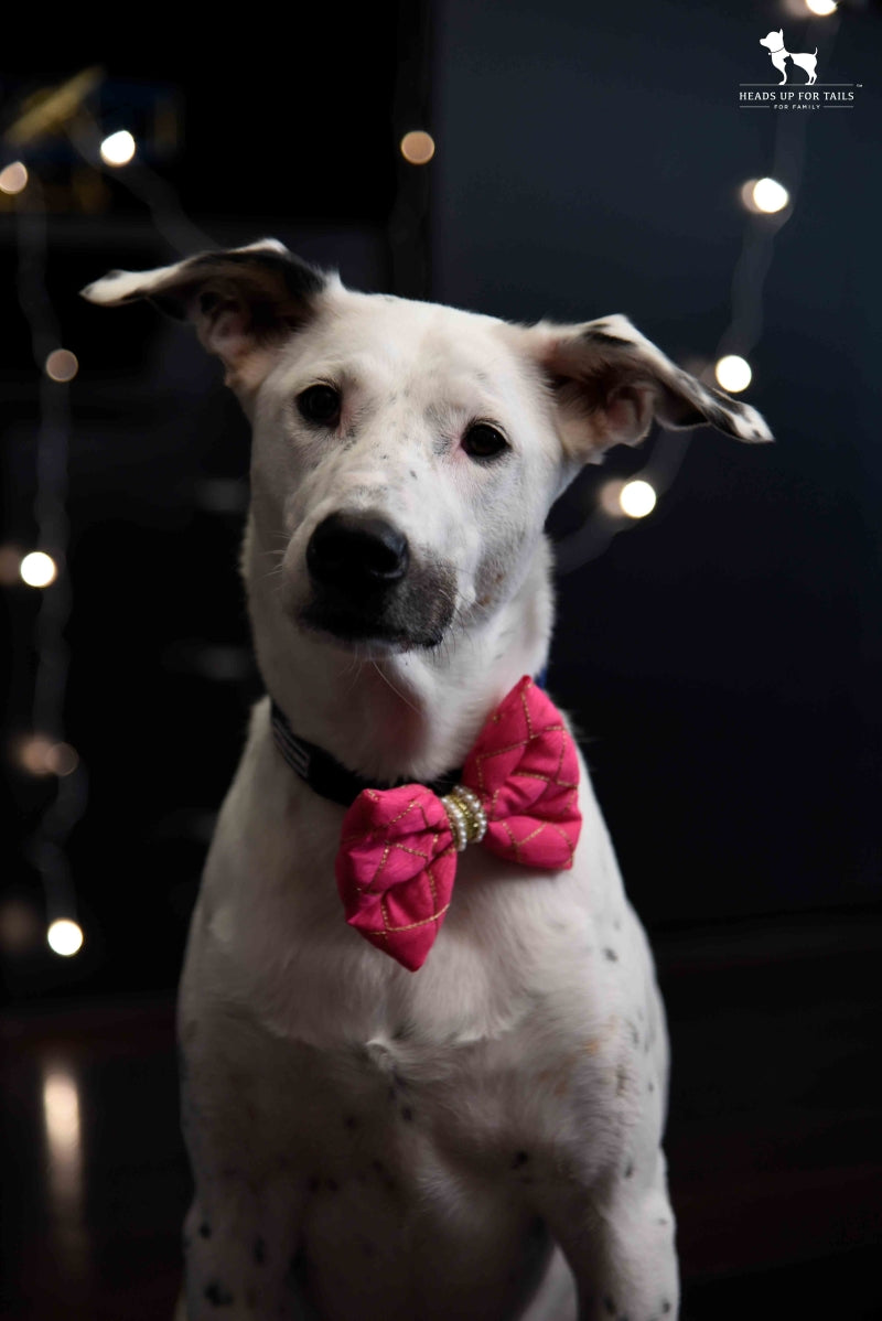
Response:
M194 322L254 433L242 567L268 696L181 982L178 1314L673 1321L664 1012L589 774L532 682L543 528L580 468L654 417L743 441L766 423L622 316L524 326L359 293L273 239L83 292ZM507 781L557 795L533 865L518 851L536 832L494 816L475 749L500 713L536 711L553 768ZM444 793L475 764L474 793ZM346 908L374 902L341 856L375 848L358 814L387 798L390 831L417 798L434 812L434 875L423 845L376 865L425 865L437 906L412 923L387 921L392 890L366 922Z

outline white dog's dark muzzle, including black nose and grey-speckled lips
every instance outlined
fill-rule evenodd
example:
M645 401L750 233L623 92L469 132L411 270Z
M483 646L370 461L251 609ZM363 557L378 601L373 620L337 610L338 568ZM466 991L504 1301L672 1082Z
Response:
M343 642L437 646L453 614L449 568L420 567L407 536L378 510L339 510L306 544L310 600L302 622Z

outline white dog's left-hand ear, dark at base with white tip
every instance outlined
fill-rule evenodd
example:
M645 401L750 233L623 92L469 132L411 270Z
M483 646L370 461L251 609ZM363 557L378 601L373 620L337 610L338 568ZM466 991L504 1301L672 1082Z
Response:
M223 362L227 384L248 394L265 375L268 350L309 318L331 279L277 239L261 239L157 271L110 271L81 292L102 306L149 299L193 321L201 342Z

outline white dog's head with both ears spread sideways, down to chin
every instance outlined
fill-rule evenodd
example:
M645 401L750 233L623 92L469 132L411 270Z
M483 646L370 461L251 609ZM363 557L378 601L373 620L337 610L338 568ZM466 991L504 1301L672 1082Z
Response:
M254 427L252 596L269 577L289 625L370 654L479 626L578 468L654 419L771 439L622 316L520 326L356 293L271 239L83 292L195 322Z

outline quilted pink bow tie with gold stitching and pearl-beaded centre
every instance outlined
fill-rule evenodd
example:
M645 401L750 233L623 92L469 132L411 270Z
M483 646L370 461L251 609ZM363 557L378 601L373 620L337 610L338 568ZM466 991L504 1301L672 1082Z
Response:
M523 867L573 865L578 757L553 701L524 676L485 723L462 783L364 789L343 819L337 884L346 921L416 972L450 906L457 852L482 843Z

